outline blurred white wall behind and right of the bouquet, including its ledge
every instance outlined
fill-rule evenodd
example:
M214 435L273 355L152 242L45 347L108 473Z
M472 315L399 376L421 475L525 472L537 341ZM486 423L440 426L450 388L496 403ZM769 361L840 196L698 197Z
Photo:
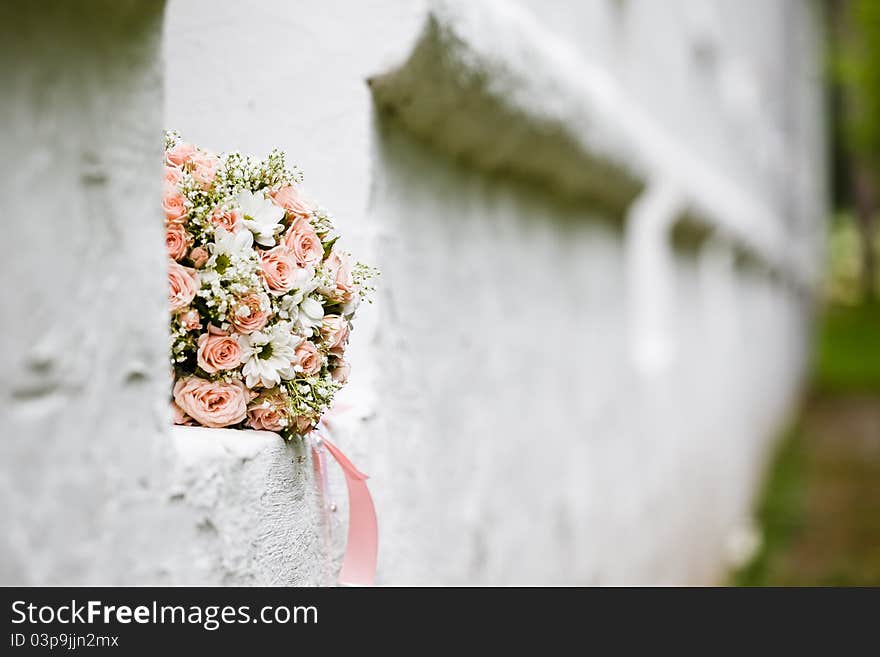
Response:
M380 581L710 582L747 551L819 265L818 9L169 4L168 126L285 148L383 271L340 437Z

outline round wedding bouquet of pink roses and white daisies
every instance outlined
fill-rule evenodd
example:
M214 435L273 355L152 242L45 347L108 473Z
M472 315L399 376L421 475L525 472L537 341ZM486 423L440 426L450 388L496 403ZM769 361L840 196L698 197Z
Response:
M215 155L165 139L165 244L177 424L311 431L345 384L375 270L340 250L326 211L275 150Z

